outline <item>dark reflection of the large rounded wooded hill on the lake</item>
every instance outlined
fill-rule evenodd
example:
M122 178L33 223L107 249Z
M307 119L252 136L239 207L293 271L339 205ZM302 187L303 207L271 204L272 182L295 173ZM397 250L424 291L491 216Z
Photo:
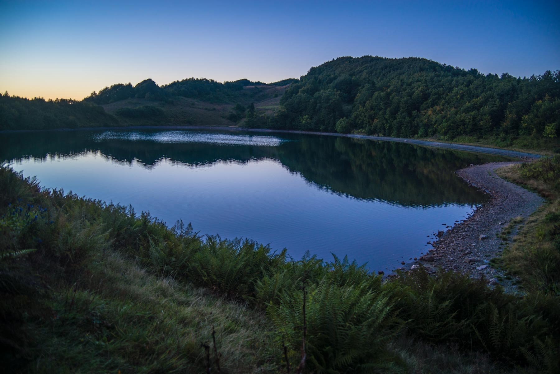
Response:
M334 191L403 205L478 203L482 194L454 171L502 157L362 139L305 139L279 147L278 160L306 179ZM296 145L297 144L297 145ZM307 157L297 157L297 149Z

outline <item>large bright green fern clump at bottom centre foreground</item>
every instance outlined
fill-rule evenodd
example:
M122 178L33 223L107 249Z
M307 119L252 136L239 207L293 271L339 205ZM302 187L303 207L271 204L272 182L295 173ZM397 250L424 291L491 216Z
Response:
M306 287L305 292L283 294L278 305L267 308L292 366L301 360L306 331L305 366L310 372L371 372L372 362L398 331L388 294L372 291L367 283L339 286L328 275Z

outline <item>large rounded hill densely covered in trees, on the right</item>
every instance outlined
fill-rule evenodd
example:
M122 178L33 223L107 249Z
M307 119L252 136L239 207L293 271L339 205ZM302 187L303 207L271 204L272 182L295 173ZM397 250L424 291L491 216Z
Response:
M268 127L454 139L560 132L560 71L516 78L423 58L341 57L311 68Z

